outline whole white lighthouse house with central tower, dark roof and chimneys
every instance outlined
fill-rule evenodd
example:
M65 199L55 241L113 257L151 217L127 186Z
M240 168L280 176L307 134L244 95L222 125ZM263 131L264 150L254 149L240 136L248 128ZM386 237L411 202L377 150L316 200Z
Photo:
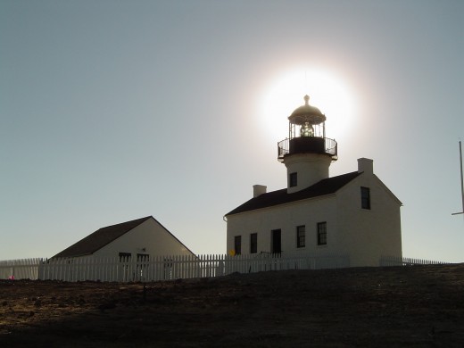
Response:
M278 143L286 188L268 193L255 185L253 198L226 214L228 251L348 255L352 267L402 256L402 203L374 174L372 160L360 158L357 170L329 177L337 144L309 101L305 95L288 117L288 138Z

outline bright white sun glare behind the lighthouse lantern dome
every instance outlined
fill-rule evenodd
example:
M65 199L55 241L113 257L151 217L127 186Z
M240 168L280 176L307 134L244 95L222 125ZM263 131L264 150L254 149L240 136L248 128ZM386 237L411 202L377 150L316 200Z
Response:
M322 69L294 69L271 79L258 103L261 125L276 141L288 137L287 117L304 104L310 104L327 117L327 137L336 138L351 128L355 118L355 96L343 79Z

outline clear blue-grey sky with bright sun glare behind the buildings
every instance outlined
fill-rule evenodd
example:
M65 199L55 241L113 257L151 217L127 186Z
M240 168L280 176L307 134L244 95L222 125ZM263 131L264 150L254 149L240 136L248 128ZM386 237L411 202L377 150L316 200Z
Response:
M308 93L330 175L371 158L402 201L404 256L464 261L463 62L460 0L0 0L0 260L148 215L226 253Z

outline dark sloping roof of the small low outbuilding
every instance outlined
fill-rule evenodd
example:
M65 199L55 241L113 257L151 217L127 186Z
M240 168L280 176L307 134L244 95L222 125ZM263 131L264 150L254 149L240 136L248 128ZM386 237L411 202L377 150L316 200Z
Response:
M116 238L126 234L131 229L137 228L138 225L148 219L153 219L153 217L147 216L142 219L100 228L91 235L79 240L78 243L70 245L69 248L64 249L61 253L57 253L54 255L54 258L77 257L95 253L97 250L103 248L104 245L110 244Z

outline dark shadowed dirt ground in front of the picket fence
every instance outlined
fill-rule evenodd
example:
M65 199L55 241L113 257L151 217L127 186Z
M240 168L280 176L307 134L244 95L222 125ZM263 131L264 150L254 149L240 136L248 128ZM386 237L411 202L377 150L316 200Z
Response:
M0 281L0 346L464 347L464 264Z

